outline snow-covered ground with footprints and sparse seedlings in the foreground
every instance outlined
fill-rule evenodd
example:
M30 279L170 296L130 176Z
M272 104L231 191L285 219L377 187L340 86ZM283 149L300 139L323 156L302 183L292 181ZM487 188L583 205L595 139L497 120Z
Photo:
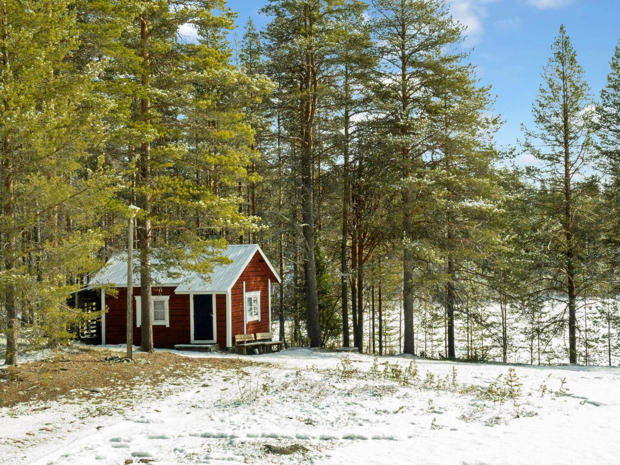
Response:
M515 366L522 395L494 405L487 388L508 366L459 363L455 379L452 363L417 359L414 365L403 356L374 363L367 355L296 349L252 360L266 363L205 370L197 381L169 386L172 394L164 398L148 396L143 386L146 399L126 402L123 414L100 413L106 403L122 402L105 391L97 409L65 401L48 402L45 410L0 410L0 463L620 461L618 368ZM308 450L278 455L265 445Z

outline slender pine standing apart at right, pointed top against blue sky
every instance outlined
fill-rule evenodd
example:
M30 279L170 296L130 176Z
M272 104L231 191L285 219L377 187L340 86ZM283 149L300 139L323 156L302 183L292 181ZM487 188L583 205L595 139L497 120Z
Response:
M528 167L527 175L538 185L533 201L546 232L546 280L549 287L567 297L569 360L577 363L577 298L584 293L580 282L584 237L579 228L591 211L582 201L595 179L585 179L593 161L593 109L590 88L583 79L564 26L554 41L552 56L542 73L543 84L532 107L537 130L524 128L523 148L541 162Z

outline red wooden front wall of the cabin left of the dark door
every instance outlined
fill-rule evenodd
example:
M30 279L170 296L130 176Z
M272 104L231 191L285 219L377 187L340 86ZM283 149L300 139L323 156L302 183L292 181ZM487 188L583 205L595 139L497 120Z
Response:
M190 296L175 294L174 286L153 288L153 295L170 296L168 301L170 326L153 325L153 344L156 347L171 347L175 344L190 343ZM105 305L108 308L105 314L105 343L124 344L126 342L126 288L117 288L116 297L106 295ZM133 343L140 345L140 329L136 327L136 299L140 295L140 288L133 288ZM218 322L219 325L219 322Z

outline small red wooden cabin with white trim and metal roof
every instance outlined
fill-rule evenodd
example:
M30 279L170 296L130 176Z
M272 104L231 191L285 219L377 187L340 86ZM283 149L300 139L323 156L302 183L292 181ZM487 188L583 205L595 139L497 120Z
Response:
M232 347L233 335L271 331L271 284L280 283L278 273L256 244L228 246L224 255L232 263L215 265L208 277L183 270L174 270L183 274L181 278L153 272L155 347L216 343ZM115 254L78 294L82 302L89 299L89 288L93 293L96 286L112 285L118 291L115 296L98 291L97 308L107 308L100 322L102 344L126 342L126 281L127 254ZM139 343L139 273L134 273L133 284L133 340Z

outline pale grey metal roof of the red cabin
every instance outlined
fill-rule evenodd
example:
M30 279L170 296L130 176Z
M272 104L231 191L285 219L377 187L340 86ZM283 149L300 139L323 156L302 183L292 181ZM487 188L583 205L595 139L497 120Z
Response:
M153 279L154 286L177 286L175 292L188 293L188 292L226 292L235 281L239 278L239 275L246 269L247 264L250 262L256 252L259 252L268 267L272 270L273 274L280 281L277 273L273 269L265 254L257 244L239 244L228 246L228 249L222 250L222 255L232 260L232 263L228 265L215 265L213 272L209 275L200 275L197 272L190 270L183 270L181 268L170 268L173 273L180 273L181 277L170 277L169 273L153 270L151 277ZM139 273L139 260L138 253L134 255L134 272L133 272L133 285L140 285L140 273ZM152 262L154 265L159 264L156 257L153 257ZM120 252L112 255L108 260L107 267L100 270L88 283L88 286L97 285L115 285L123 287L127 285L127 253Z

